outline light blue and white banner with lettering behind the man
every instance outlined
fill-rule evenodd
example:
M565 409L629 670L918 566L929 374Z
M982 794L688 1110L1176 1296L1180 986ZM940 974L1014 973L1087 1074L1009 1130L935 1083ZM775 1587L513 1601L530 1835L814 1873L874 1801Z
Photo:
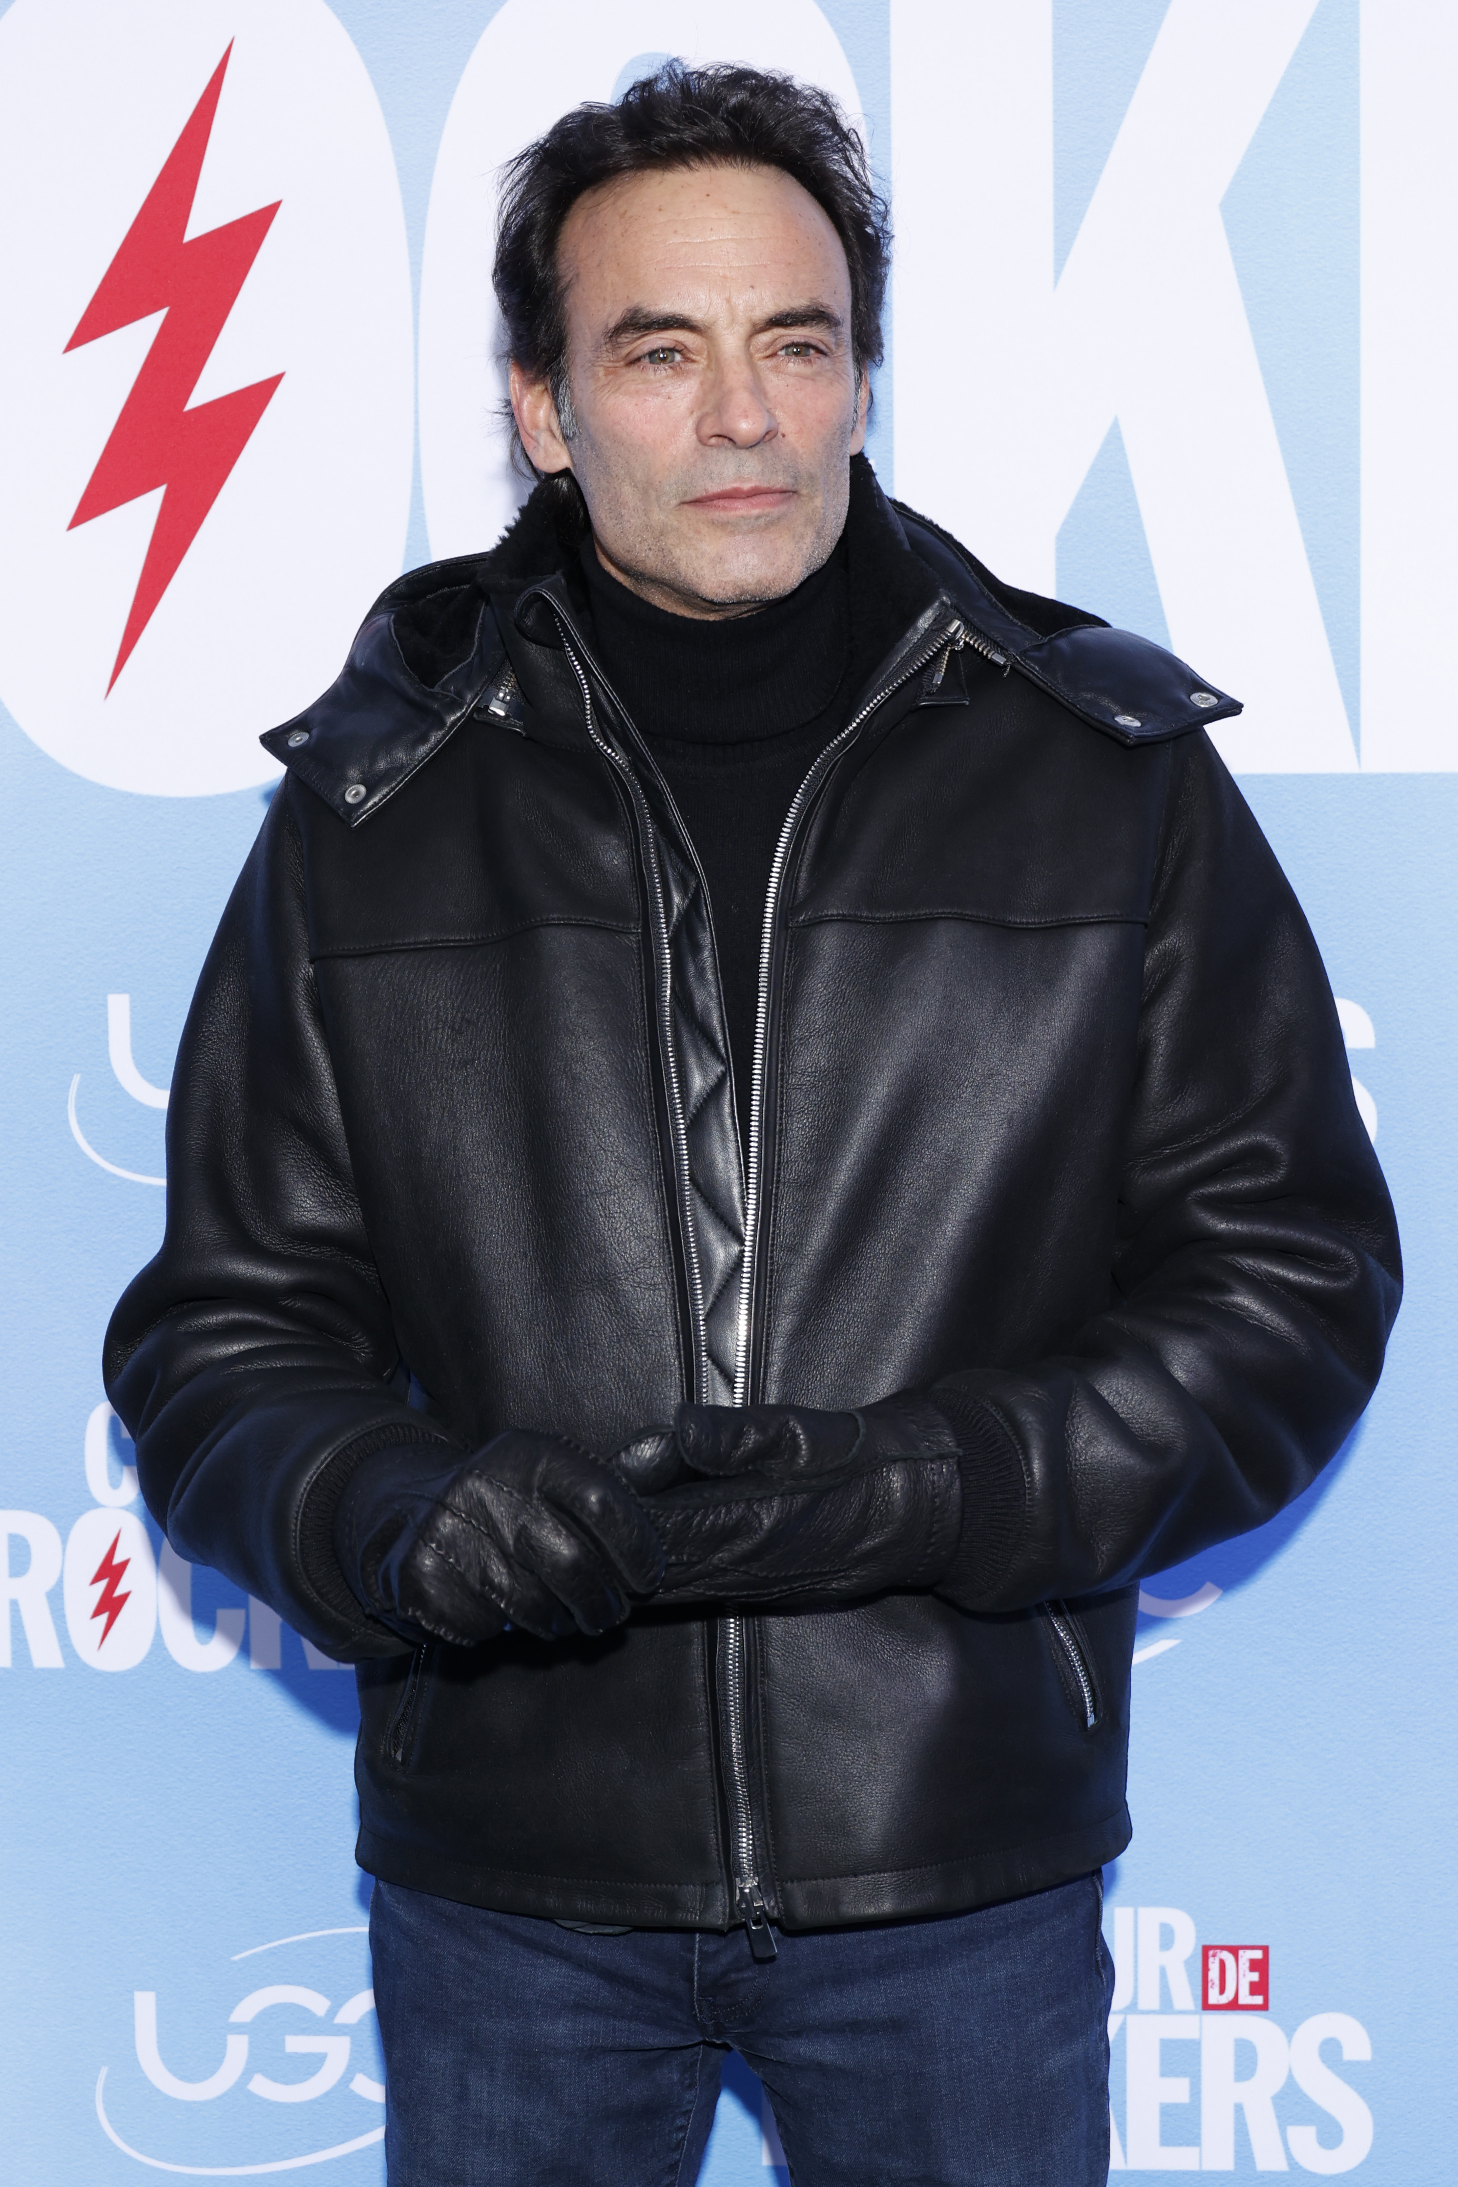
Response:
M0 2143L15 2187L383 2180L354 1682L146 1518L103 1328L275 770L487 545L501 162L660 57L892 190L872 459L1172 645L1322 947L1410 1293L1263 1531L1145 1583L1113 2167L1451 2178L1458 15L1445 0L0 9ZM872 1758L874 1763L874 1758ZM704 2180L785 2178L730 2067ZM627 2187L627 2183L625 2183Z

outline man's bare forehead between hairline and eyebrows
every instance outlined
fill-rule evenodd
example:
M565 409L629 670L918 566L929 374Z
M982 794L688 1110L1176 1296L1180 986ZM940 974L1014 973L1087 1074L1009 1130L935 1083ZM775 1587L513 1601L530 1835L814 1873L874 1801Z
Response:
M774 166L623 175L577 199L557 262L577 317L625 304L787 289L848 311L850 271L828 214Z

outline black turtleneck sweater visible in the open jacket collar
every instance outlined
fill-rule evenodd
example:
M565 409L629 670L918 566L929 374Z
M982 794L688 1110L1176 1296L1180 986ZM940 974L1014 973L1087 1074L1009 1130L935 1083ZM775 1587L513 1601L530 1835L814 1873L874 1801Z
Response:
M846 542L754 615L669 615L610 577L588 540L592 636L699 853L719 947L739 1126L748 1131L759 945L789 803L853 700Z

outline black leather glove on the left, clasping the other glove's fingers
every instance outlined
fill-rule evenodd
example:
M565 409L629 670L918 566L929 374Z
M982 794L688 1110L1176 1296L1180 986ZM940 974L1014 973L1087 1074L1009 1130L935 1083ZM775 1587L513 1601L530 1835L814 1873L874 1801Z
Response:
M422 1443L363 1459L334 1511L334 1555L374 1618L457 1647L507 1625L540 1640L608 1632L662 1572L632 1489L527 1428L446 1465Z

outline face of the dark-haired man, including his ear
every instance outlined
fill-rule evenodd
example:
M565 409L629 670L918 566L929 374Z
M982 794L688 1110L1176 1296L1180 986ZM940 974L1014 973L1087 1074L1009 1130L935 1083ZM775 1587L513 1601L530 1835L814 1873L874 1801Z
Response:
M846 523L866 440L850 276L780 168L630 175L560 243L575 426L512 365L538 470L573 470L605 569L678 615L780 599Z

